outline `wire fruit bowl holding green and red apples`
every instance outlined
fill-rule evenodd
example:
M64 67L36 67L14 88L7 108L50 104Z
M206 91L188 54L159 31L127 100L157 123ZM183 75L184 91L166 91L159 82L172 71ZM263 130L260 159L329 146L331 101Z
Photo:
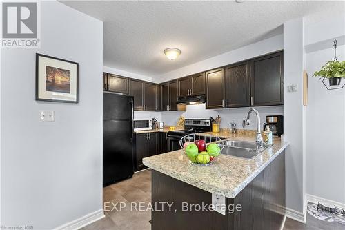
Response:
M188 134L179 140L179 146L193 164L210 165L217 160L224 146L219 146L219 137L199 136L195 133Z

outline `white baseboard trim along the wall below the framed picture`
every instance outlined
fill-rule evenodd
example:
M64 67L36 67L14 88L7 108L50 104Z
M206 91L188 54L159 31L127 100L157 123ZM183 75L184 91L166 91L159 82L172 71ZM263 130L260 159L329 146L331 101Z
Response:
M55 228L54 230L77 230L77 229L81 229L82 227L85 227L88 224L96 222L97 220L101 220L104 217L105 217L105 215L104 215L103 209L99 209L98 211L84 215L81 218L78 218L76 220L72 220L71 222L68 222L66 224L62 224L59 227Z

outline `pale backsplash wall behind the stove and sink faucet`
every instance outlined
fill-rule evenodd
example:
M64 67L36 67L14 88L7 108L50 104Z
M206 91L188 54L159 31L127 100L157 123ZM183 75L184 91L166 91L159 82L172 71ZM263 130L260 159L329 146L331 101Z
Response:
M266 107L255 107L259 111L261 118L261 127L264 126L264 122L267 115L283 115L283 106L266 106ZM250 107L247 108L222 108L217 110L206 110L206 104L188 105L187 111L168 111L161 112L161 119L166 125L177 124L177 119L179 116L184 116L185 118L209 118L221 117L221 128L230 128L230 122L235 121L237 128L242 128L242 120L246 119ZM245 129L256 129L256 118L253 113L250 115L250 126L246 126Z

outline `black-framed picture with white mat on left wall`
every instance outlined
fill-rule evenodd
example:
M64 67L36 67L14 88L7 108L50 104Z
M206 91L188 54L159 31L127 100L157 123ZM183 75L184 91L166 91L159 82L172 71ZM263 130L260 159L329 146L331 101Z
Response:
M78 103L77 62L36 54L36 100Z

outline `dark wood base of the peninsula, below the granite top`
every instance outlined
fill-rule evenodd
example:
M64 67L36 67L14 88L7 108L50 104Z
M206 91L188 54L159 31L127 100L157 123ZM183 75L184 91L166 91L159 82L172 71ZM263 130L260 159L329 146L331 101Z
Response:
M285 215L285 153L281 153L226 206L240 204L242 211L182 211L182 204L212 204L212 194L152 170L152 204L169 202L171 209L152 211L152 230L257 229L277 230ZM175 211L176 210L176 211Z

